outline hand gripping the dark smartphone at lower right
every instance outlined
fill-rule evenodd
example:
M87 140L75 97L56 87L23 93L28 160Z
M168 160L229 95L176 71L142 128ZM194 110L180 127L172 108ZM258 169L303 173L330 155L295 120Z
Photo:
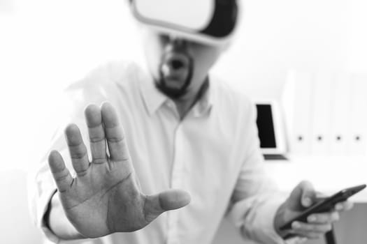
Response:
M315 192L312 184L308 181L299 183L287 201L280 206L275 214L274 227L280 236L301 236L305 238L320 238L326 232L332 229L333 222L340 218L340 211L347 211L352 209L352 202L343 201L334 207L330 212L326 213L312 213L308 216L307 222L292 222L292 229L280 231L280 227L292 220L306 208L317 202L317 192Z

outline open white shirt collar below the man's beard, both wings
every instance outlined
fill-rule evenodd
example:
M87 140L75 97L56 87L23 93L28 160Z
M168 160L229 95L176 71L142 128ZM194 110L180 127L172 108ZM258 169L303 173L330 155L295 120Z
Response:
M212 79L209 77L208 81L208 89L203 93L200 100L196 102L196 105L199 107L200 112L208 111L214 103L214 87L215 84L212 82ZM139 86L141 90L141 96L145 103L145 108L147 109L148 114L152 115L154 112L161 107L165 102L170 100L166 95L161 93L155 86L152 77L148 75L144 75L139 79ZM194 106L196 106L194 105Z

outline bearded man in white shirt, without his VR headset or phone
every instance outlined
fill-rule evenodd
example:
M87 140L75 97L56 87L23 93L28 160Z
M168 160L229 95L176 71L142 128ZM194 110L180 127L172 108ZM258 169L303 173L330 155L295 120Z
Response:
M199 38L142 27L148 73L110 63L68 89L66 143L55 136L32 201L50 241L210 243L227 215L244 236L284 243L289 234L322 236L351 207L338 204L280 231L316 201L315 190L302 182L287 199L279 195L264 174L253 106L208 74L229 42L210 33L231 32L218 26L237 15L236 1L215 4L222 8L210 23L224 24Z

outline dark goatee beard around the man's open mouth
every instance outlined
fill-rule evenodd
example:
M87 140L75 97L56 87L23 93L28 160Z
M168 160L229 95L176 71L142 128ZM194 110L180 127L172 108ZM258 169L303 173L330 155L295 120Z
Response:
M154 84L171 99L179 99L189 91L194 73L194 60L185 52L164 54L159 64L159 77Z

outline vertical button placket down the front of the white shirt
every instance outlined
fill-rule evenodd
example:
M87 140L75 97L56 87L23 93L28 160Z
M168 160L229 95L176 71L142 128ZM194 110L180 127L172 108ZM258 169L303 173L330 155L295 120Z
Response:
M182 132L182 123L178 125L175 131L175 149L173 155L173 166L171 174L171 188L183 189L183 171L184 171L184 137ZM177 211L168 212L168 238L167 244L179 244L178 238L178 213Z

